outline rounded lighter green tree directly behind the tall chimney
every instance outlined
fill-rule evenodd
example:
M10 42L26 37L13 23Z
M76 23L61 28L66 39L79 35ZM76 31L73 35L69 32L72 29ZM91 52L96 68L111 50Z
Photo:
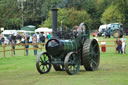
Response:
M52 16L51 11L49 12L48 19L42 23L41 26L52 27ZM59 9L58 11L58 27L61 26L61 22L64 26L73 27L74 25L79 25L81 22L91 23L90 16L85 10L75 10L75 9Z

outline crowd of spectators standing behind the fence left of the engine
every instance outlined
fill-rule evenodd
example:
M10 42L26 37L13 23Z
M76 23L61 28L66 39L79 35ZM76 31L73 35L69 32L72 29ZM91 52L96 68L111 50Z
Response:
M4 35L0 34L0 45L12 45L13 54L15 55L15 44L25 44L26 48L26 55L28 55L28 48L29 43L32 43L34 48L34 55L37 55L37 43L45 43L46 39L50 39L50 33L35 33L35 34L11 34L5 37Z

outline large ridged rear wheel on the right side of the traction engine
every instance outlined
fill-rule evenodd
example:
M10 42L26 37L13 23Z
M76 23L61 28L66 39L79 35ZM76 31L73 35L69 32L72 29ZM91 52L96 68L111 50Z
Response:
M87 71L97 70L100 61L100 50L95 39L87 39L83 45L83 65Z

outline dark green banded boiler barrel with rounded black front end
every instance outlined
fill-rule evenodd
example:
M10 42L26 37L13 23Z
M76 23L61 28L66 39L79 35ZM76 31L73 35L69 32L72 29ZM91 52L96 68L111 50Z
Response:
M52 56L67 54L68 52L76 51L79 48L80 44L77 40L51 39L46 44L46 50Z

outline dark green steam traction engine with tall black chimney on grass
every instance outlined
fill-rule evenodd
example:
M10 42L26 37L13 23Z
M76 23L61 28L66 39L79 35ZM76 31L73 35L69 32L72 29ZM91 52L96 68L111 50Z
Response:
M85 70L98 69L100 51L98 42L89 38L89 29L81 23L78 31L57 30L57 9L52 9L52 38L46 43L46 52L41 52L36 59L36 68L40 74L66 71L69 75L79 72L80 65Z

